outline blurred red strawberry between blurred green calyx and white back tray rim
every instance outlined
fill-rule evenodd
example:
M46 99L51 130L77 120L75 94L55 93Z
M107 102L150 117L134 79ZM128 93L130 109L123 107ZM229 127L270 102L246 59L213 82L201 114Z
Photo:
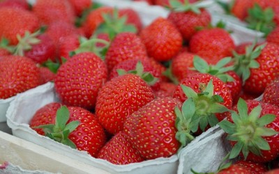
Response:
M137 28L138 33L142 30L142 19L140 18L140 15L137 13L137 11L133 10L133 8L119 9L119 16L126 16L126 24L133 24Z

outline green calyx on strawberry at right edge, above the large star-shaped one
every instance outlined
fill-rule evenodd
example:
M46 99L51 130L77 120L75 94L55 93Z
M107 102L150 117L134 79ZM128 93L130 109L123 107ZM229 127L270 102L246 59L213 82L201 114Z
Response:
M259 68L259 63L256 59L262 53L262 49L266 46L266 43L264 43L256 47L256 43L257 42L255 41L252 45L246 47L245 54L237 54L236 52L233 52L234 71L239 77L241 77L243 84L245 84L245 81L250 77L250 69Z

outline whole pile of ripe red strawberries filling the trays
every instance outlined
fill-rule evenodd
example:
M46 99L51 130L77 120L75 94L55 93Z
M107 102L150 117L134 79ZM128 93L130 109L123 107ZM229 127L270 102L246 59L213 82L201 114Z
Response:
M30 127L112 164L170 157L219 125L232 145L224 161L237 162L216 173L271 173L279 26L235 45L198 3L167 1L169 15L143 26L135 10L91 0L0 1L0 99L53 81L60 102Z

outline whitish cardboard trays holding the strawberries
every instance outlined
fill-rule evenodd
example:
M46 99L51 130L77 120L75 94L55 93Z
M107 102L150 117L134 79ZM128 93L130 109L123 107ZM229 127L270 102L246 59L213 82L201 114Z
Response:
M107 6L115 6L116 8L133 8L137 11L137 13L139 13L140 17L142 17L142 22L145 26L150 24L157 17L167 17L169 13L169 11L165 10L163 7L149 6L143 2L133 2L127 0L95 0L95 2L103 3ZM236 45L242 42L252 41L256 37L260 37L261 33L245 29L244 26L234 24L233 22L229 22L229 20L225 20L223 16L216 15L214 13L216 9L217 8L211 8L211 14L213 14L212 23L214 24L218 22L219 18L223 19L223 21L227 23L227 29L233 31L232 38L234 39ZM54 91L54 84L51 82L15 96L13 100L10 101L10 104L8 104L6 118L7 124L12 129L14 136L26 140L36 148L43 148L47 152L58 155L58 157L54 157L52 160L60 161L61 163L59 165L61 165L61 168L68 167L68 164L65 162L65 160L73 160L73 168L77 171L80 167L74 164L79 164L82 166L82 168L84 168L83 173L187 174L191 173L191 168L197 172L209 172L216 171L221 160L223 157L225 157L225 155L227 155L227 152L229 151L229 145L227 145L224 139L224 132L217 126L212 127L200 136L197 136L194 141L180 150L177 155L173 155L172 157L158 158L128 165L110 164L103 159L93 158L86 152L69 148L68 146L57 143L56 141L53 141L45 136L40 136L29 127L29 120L31 120L33 114L41 106L44 106L50 102L59 102ZM4 146L2 145L1 147ZM9 150L11 147L7 145L6 148ZM36 151L36 148L33 148L33 150ZM22 148L22 150L24 150L24 148ZM38 155L40 152L43 151L38 151L35 153ZM10 165L8 166L13 168L13 170L25 170L25 173L28 173L28 170L34 170L34 168L31 168L28 165L22 166L23 164L19 163L15 159L7 158L7 160L10 162ZM27 158L26 160L28 161L29 159ZM59 171L61 170L59 168L54 168L55 171L52 170L53 167L40 168L40 165L37 164L39 161L40 160L32 161L33 166L38 166L36 169L41 169L42 171L45 171L45 173L62 172ZM22 166L23 169L16 167L16 165ZM0 168L0 173L1 172L3 172L3 169Z

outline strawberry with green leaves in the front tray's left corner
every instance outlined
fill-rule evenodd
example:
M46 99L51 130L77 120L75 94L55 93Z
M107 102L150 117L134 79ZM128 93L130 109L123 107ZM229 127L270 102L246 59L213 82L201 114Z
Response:
M54 107L56 109L56 107ZM45 111L44 111L45 110ZM52 106L38 110L31 118L32 129L42 128L45 136L69 145L71 148L83 150L92 157L97 157L100 149L105 145L106 137L103 127L96 116L86 109L76 106L60 106L56 115ZM52 122L48 125L36 125L45 122L45 116L50 116Z

